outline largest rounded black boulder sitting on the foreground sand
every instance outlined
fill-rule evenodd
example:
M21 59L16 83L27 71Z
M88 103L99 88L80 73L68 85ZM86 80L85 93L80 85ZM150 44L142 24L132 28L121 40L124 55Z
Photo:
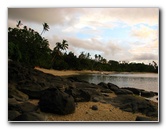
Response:
M75 102L72 96L52 88L42 92L39 107L42 112L66 115L75 111Z

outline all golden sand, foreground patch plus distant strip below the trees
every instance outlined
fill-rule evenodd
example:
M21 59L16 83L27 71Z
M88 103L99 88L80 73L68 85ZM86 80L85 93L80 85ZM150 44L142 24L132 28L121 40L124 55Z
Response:
M69 76L78 74L88 74L88 73L99 73L99 71L58 71L58 70L48 70L43 68L35 68L44 73L50 73L56 76ZM108 74L112 72L106 72ZM114 93L109 93L109 97L116 97ZM38 104L38 100L31 100L33 104ZM98 110L92 110L91 107L97 105ZM56 115L52 113L44 113L38 111L45 116L46 121L135 121L137 116L147 117L141 113L131 113L120 110L118 107L114 107L111 104L101 103L101 102L79 102L76 111L69 115ZM155 118L154 121L157 119Z

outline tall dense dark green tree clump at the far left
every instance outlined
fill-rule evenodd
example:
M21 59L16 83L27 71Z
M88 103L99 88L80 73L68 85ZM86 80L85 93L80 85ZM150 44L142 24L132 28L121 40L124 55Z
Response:
M8 29L8 56L12 60L32 67L49 67L50 53L48 40L33 29Z

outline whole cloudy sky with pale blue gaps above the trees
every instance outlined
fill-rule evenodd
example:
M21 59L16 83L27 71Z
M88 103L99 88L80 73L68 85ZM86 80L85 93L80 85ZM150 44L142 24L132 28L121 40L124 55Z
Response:
M51 49L65 39L76 55L84 51L91 58L158 62L158 8L9 8L8 26L16 27L18 20L39 33L48 23L50 30L42 36Z

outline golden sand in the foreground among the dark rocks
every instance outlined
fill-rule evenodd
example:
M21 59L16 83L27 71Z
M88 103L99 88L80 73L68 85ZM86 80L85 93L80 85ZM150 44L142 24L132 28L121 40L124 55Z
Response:
M38 100L29 101L33 104L38 103ZM98 110L92 110L93 105L98 106ZM56 122L56 121L70 121L70 122L116 122L116 121L135 121L137 116L147 117L141 113L131 113L120 110L117 107L112 106L111 104L105 104L100 102L79 102L76 110L73 114L69 115L57 115L52 113L44 113L38 110L43 116L45 116L46 121ZM156 119L154 119L155 121Z

